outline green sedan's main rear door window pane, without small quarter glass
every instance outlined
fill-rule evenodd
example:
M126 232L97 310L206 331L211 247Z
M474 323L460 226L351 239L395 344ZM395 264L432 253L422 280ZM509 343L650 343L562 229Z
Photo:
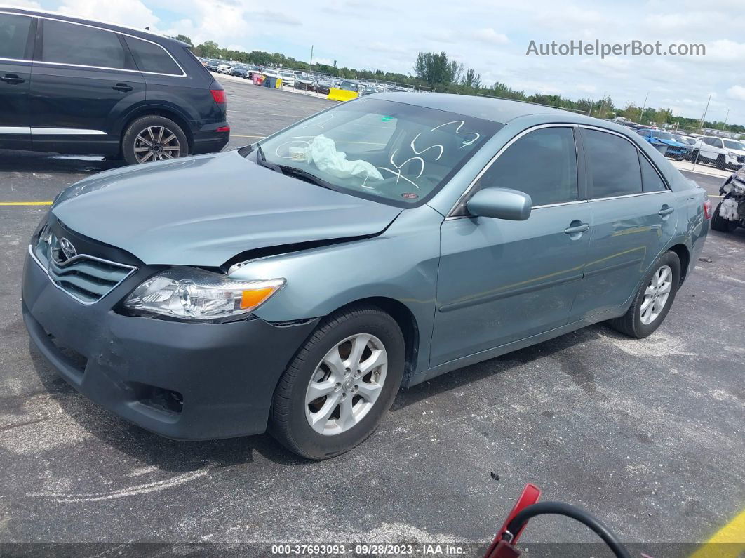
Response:
M637 149L627 139L598 130L583 130L592 197L641 194Z

